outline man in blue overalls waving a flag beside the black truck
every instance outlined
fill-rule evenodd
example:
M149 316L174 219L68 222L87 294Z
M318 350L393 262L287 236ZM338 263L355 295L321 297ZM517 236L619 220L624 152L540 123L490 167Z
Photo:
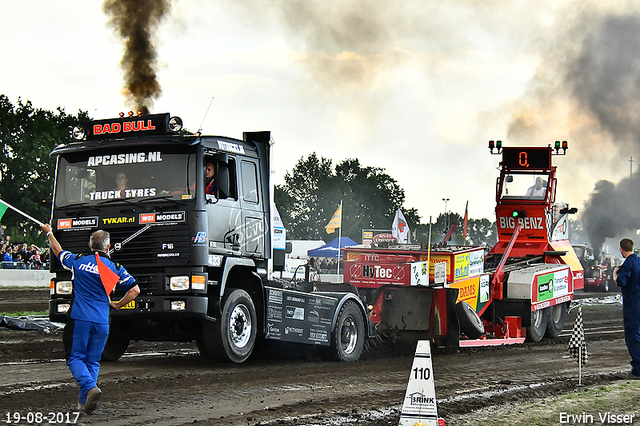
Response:
M47 234L51 250L65 269L71 270L73 280L73 303L70 318L65 325L67 365L80 386L78 410L91 413L95 410L102 391L97 386L100 372L100 358L109 336L109 309L120 309L136 298L140 288L135 279L120 265L109 259L110 237L106 231L96 231L91 235L89 247L94 256L82 256L63 250L56 240L50 225L42 225ZM98 260L99 259L99 260ZM105 290L98 271L106 266L117 279L116 287L127 290L118 302L112 302ZM104 265L104 266L103 266Z

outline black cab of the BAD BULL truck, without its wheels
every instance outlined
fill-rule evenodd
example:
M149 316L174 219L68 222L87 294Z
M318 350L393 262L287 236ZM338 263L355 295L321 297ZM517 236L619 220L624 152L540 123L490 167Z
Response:
M188 135L180 123L169 114L93 121L52 152L56 238L65 250L87 253L90 235L108 231L112 260L141 289L112 312L112 358L132 339L200 339L199 321L220 316L225 274L244 270L243 287L254 294L255 271L266 274L269 132L244 140ZM214 194L205 194L208 162L216 169ZM51 271L50 317L65 321L71 275L57 259Z

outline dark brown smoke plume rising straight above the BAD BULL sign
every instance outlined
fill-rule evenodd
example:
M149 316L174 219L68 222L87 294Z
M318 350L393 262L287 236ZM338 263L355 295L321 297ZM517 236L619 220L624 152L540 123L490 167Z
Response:
M144 114L162 93L153 34L170 7L169 0L104 0L102 4L109 24L124 42L120 66L127 103Z

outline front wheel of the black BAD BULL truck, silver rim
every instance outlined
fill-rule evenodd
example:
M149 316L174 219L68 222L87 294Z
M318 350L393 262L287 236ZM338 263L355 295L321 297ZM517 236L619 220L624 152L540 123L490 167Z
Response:
M257 330L251 296L235 289L224 299L220 320L203 324L204 352L215 361L243 363L253 352Z

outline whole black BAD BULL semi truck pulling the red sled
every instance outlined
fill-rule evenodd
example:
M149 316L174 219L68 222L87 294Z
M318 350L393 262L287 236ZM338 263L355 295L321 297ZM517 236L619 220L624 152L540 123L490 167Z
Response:
M141 290L112 310L103 359L117 360L130 341L195 341L203 356L242 363L259 339L358 359L368 328L353 287L273 274L284 267L284 251L273 244L284 236L273 226L270 132L234 139L182 127L170 114L120 114L77 126L51 153L56 238L86 254L90 235L108 231L112 260ZM71 271L52 259L51 272L49 317L66 322Z

